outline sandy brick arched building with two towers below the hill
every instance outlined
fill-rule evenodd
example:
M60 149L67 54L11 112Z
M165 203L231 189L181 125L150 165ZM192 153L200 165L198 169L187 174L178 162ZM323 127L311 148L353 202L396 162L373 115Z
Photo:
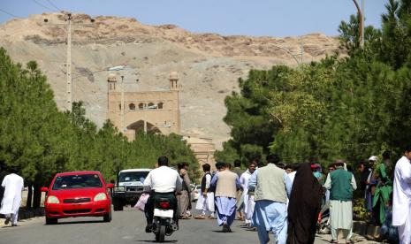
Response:
M109 75L107 118L129 141L135 139L139 130L146 133L180 134L178 73L171 72L169 80L170 90L167 91L126 92L122 91L123 80L118 80L115 74ZM122 101L125 104L124 111L121 110ZM207 163L215 169L216 149L211 139L200 138L198 135L185 135L184 139L201 165Z

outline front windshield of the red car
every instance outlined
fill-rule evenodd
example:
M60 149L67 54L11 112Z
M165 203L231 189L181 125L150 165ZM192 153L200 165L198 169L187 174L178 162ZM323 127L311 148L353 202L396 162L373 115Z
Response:
M57 176L53 184L53 190L64 190L72 188L103 187L98 174L79 174Z

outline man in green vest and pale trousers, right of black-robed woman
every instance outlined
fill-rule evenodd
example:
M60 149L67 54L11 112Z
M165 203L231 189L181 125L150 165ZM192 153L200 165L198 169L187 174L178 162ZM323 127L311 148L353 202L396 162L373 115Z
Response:
M352 172L344 170L344 161L337 160L336 170L329 173L324 187L330 190L331 242L338 243L339 229L347 243L353 236L353 191L357 188Z

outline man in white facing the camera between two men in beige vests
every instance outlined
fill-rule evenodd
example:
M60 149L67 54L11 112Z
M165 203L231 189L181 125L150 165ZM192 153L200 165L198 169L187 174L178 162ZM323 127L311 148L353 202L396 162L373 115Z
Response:
M244 214L246 216L245 223L251 227L251 218L253 217L254 212L254 195L248 194L248 179L250 179L253 172L255 172L255 167L257 164L253 161L248 165L246 172L243 172L240 177L240 184L243 189L243 199L244 199Z

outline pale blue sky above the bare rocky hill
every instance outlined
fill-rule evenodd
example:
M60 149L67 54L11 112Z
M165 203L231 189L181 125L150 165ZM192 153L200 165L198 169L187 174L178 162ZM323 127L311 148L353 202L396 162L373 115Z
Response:
M361 0L360 4L361 4ZM388 0L364 0L366 25L381 26ZM133 17L146 25L174 24L195 33L288 36L337 35L356 12L352 0L0 0L0 23L57 11ZM42 6L43 5L43 6Z

